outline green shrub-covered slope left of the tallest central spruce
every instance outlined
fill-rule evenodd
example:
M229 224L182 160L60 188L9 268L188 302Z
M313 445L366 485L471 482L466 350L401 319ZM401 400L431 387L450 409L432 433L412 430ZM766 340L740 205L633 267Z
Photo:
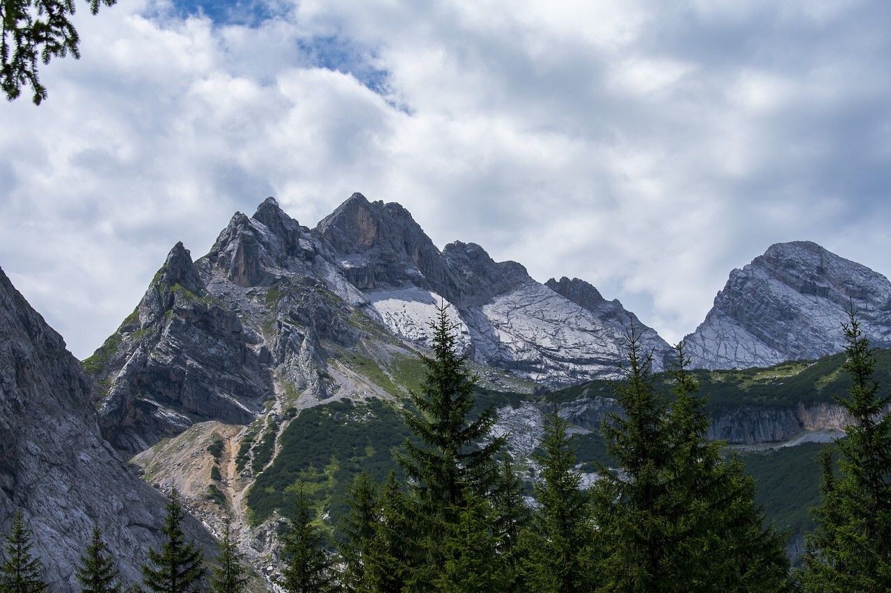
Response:
M279 436L273 464L257 476L247 503L257 523L275 508L287 508L293 485L307 484L307 496L323 502L331 516L343 516L347 484L366 471L377 481L396 468L392 451L409 431L396 411L380 400L331 402L301 410Z

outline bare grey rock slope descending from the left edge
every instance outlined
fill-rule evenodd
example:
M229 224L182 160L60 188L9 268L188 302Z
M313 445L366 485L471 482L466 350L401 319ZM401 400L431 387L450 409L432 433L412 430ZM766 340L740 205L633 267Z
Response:
M61 336L0 270L0 527L21 509L53 591L80 590L74 571L94 526L127 582L141 581L148 549L163 543L167 502L102 439L92 390ZM194 519L186 529L215 553Z

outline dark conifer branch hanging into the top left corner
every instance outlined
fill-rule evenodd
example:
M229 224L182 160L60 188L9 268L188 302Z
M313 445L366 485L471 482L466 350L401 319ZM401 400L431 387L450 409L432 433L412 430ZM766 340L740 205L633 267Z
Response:
M116 0L90 0L90 12L99 5L110 6ZM6 99L19 97L22 86L34 91L31 100L39 105L46 98L46 88L37 76L37 61L48 64L52 58L71 53L80 57L78 31L71 23L73 0L0 0L0 86Z

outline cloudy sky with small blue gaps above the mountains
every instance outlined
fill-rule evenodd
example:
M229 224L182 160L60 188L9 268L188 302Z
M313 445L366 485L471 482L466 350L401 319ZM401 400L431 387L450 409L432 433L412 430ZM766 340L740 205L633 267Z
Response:
M891 273L885 0L200 4L78 2L0 103L0 267L78 357L266 196L399 202L670 342L772 243Z

